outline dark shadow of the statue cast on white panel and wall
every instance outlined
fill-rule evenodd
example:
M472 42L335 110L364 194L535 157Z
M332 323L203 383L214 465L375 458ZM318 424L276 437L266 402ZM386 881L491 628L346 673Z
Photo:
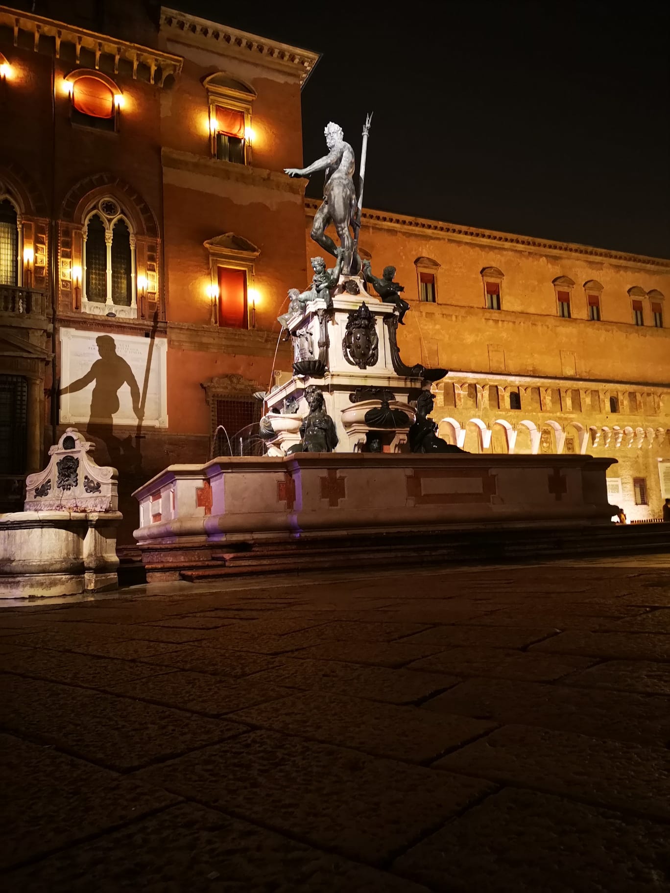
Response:
M124 467L138 471L141 468L141 454L132 442L132 435L129 434L127 438L121 439L113 433L113 415L118 413L120 407L119 391L126 384L130 388L130 399L133 412L138 419L138 429L141 427L144 406L138 381L129 363L116 353L116 342L111 335L99 335L96 338L96 345L99 359L80 379L62 388L61 396L88 388L88 385L95 382L89 410L88 435L100 438L105 443L110 462L115 467L119 467L122 459Z

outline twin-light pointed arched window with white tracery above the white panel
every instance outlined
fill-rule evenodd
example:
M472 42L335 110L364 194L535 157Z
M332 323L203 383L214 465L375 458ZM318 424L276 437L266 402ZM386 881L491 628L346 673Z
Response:
M135 236L128 217L112 197L101 199L88 213L82 267L84 312L133 319L137 316Z

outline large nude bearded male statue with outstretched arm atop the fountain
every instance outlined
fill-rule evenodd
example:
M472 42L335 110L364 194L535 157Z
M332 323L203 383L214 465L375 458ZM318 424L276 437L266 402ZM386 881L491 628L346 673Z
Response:
M330 255L337 256L337 246L325 232L333 223L342 246L342 268L345 273L349 273L354 256L354 239L349 227L357 224L356 187L353 179L356 159L354 150L344 141L342 128L338 124L331 121L323 132L328 154L309 167L285 168L284 172L289 177L311 177L317 171L325 171L323 203L314 215L311 236L317 245L322 246Z

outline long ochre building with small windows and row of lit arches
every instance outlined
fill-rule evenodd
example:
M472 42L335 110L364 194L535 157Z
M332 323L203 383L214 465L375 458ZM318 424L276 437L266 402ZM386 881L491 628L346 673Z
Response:
M360 244L405 286L403 355L450 370L433 388L442 437L469 452L613 456L612 503L628 521L660 519L670 261L376 211Z

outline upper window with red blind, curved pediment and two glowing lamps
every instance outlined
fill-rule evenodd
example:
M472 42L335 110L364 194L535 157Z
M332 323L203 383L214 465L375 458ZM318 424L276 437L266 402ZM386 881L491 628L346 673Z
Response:
M255 89L220 71L205 78L212 157L234 164L251 164L251 109Z

